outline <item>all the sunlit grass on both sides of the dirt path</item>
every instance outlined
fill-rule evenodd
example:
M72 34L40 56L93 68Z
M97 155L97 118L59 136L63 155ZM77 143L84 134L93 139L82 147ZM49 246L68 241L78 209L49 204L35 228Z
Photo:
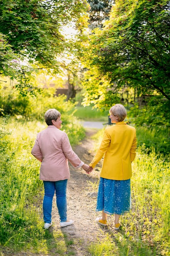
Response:
M69 118L68 118L69 119ZM74 241L60 230L44 230L42 222L42 182L40 163L30 150L36 134L46 128L43 122L10 119L0 130L0 243L1 249L31 251L52 255L74 255ZM76 119L64 125L71 143L83 138L84 130ZM11 132L11 134L10 134ZM137 128L138 150L133 162L132 212L121 218L119 231L101 229L105 238L89 245L92 256L170 255L170 181L168 132ZM103 135L95 135L96 148ZM155 144L154 144L155 143ZM153 147L153 145L157 145ZM166 145L166 146L164 146ZM159 146L164 155L159 154ZM166 154L166 157L165 157ZM88 183L97 191L98 183ZM37 207L39 206L39 207ZM40 209L38 209L40 208Z

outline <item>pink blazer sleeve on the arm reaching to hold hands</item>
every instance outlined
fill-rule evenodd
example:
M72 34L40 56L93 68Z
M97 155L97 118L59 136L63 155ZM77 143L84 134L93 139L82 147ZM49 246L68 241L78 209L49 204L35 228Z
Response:
M81 166L84 165L84 162L80 160L78 155L75 154L73 151L69 138L67 134L65 133L64 136L62 137L62 150L68 161L75 167L75 168L80 168Z

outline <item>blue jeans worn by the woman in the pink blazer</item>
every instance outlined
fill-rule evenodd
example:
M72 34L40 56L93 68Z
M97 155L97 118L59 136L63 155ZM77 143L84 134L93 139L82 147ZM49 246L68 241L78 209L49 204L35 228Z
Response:
M56 203L61 222L67 220L67 180L61 181L43 181L44 183L44 200L43 214L44 222L51 223L52 199L56 191Z

